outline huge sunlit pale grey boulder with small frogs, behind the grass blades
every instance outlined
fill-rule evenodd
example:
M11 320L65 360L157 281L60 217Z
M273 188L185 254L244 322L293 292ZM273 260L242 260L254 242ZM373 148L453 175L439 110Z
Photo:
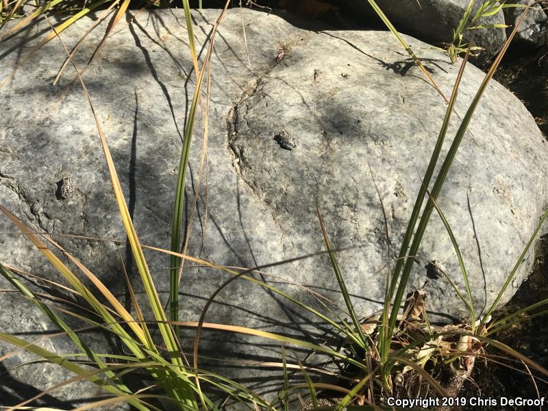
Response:
M199 47L217 14L216 10L193 14ZM231 10L221 25L212 58L207 190L205 171L197 183L203 136L200 116L188 173L187 221L190 199L195 190L199 193L188 253L216 264L249 268L322 251L317 202L334 246L352 247L340 252L338 260L358 314L369 316L382 306L387 252L392 265L445 103L391 34L312 32L295 27L285 17ZM84 19L62 34L68 47L90 23ZM80 67L105 27L100 25L79 49ZM48 30L40 24L0 43L0 78ZM23 45L23 38L30 42ZM449 95L458 66L425 43L406 40ZM277 59L280 49L284 58ZM64 51L53 41L0 89L0 201L27 224L53 235L127 303L121 259L140 296L142 288L125 247L101 240L123 241L125 236L82 90L73 86L62 96L73 79L72 71L64 73L58 86L52 85L63 61ZM195 82L191 67L184 16L179 10L164 10L141 12L131 24L123 23L84 75L145 245L169 249L182 130ZM466 69L456 105L461 117L483 75L473 66ZM448 138L457 124L453 116ZM439 204L459 241L475 306L481 312L497 295L547 205L548 143L521 102L496 82L488 86L470 132ZM283 147L282 137L295 147ZM388 243L375 184L386 210ZM4 264L59 279L3 216L0 232ZM149 250L145 254L166 301L169 256ZM426 304L431 319L466 316L447 282L450 277L463 288L449 236L436 215L417 260L409 290L429 280ZM427 260L443 264L445 277L430 279ZM529 255L504 301L527 276L531 262ZM318 310L323 308L312 292L344 305L325 255L271 266L255 277ZM227 278L189 264L182 277L181 319L197 321L206 299ZM1 280L0 288L11 287ZM146 307L145 314L149 315ZM244 279L221 291L206 321L255 327L314 343L330 336L329 327L312 314ZM51 327L28 301L10 293L0 300L0 329L33 338ZM101 343L101 335L90 339L97 347L112 349ZM47 341L55 351L71 350L61 337ZM280 361L280 347L272 341L207 331L202 341L204 356L234 360L245 354L248 360ZM192 330L184 333L182 343L191 345ZM0 355L11 349L0 345ZM299 350L292 353L304 355ZM19 353L9 366L27 358ZM207 365L201 361L201 366ZM259 391L275 393L276 382L283 382L279 369L249 366L242 371L234 362L212 362ZM53 368L58 370L34 364L10 375L15 382L42 389L68 377ZM40 377L45 374L47 379ZM66 388L51 395L63 402L98 394ZM13 397L8 393L4 398L13 402Z

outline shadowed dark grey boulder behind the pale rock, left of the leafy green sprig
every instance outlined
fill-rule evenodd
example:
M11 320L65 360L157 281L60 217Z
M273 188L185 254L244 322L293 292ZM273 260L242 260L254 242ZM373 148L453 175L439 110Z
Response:
M342 0L336 3L341 8L353 10L353 15L361 13L366 21L371 18L378 19L366 0ZM453 40L453 31L464 16L469 0L375 0L375 3L399 32L410 34L433 45L443 46L444 43L447 44ZM484 0L475 0L471 16L474 16L483 3ZM502 10L474 23L474 25L493 24L504 25ZM506 41L506 32L500 27L466 30L462 34L466 42L469 42L474 34L474 44L484 48L477 58L471 59L478 65L485 64L493 58Z

